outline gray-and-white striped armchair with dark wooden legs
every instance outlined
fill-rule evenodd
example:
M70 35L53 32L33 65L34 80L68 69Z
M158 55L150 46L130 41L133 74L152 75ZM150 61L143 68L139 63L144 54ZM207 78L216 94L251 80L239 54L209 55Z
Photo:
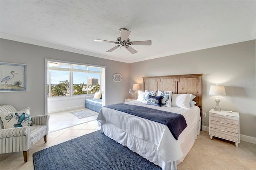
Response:
M16 111L12 105L0 106L0 114ZM0 154L23 151L24 162L27 162L29 148L42 137L47 142L49 117L50 115L34 116L31 117L32 126L6 129L0 119Z

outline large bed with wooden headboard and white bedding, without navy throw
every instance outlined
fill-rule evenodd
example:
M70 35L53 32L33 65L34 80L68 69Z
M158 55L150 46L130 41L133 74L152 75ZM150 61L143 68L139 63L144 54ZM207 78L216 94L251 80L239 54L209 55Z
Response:
M167 125L109 107L102 107L97 118L101 124L101 132L163 170L177 169L177 164L184 160L202 129L202 74L143 77L143 89L173 91L174 94L189 93L195 96L193 101L196 105L189 109L158 107L140 101L122 104L182 115L187 126L178 138Z

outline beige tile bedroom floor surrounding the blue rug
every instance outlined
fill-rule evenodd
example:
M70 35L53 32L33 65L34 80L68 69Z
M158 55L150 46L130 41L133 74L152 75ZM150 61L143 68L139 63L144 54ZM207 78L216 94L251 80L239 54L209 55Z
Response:
M32 155L34 152L65 142L72 138L99 130L97 121L82 123L73 127L51 132L48 142L41 139L29 150L29 160L24 163L23 153L0 154L1 170L34 170ZM178 170L256 170L256 144L234 142L213 137L201 131L194 146L178 166Z

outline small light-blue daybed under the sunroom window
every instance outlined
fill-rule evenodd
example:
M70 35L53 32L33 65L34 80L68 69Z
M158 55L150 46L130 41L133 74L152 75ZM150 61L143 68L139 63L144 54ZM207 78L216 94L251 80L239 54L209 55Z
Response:
M92 111L99 113L102 107L102 98L100 99L93 99L93 98L94 98L94 95L86 95L84 106L87 109L90 109Z

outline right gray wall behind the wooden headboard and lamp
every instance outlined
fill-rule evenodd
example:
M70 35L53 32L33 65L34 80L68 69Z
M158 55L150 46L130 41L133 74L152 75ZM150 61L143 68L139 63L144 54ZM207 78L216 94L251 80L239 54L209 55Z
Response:
M220 96L222 110L240 113L240 134L256 137L256 56L255 40L224 45L130 64L130 87L143 84L142 77L203 73L203 125L208 127L208 112L216 106L208 95L210 85L224 85Z

